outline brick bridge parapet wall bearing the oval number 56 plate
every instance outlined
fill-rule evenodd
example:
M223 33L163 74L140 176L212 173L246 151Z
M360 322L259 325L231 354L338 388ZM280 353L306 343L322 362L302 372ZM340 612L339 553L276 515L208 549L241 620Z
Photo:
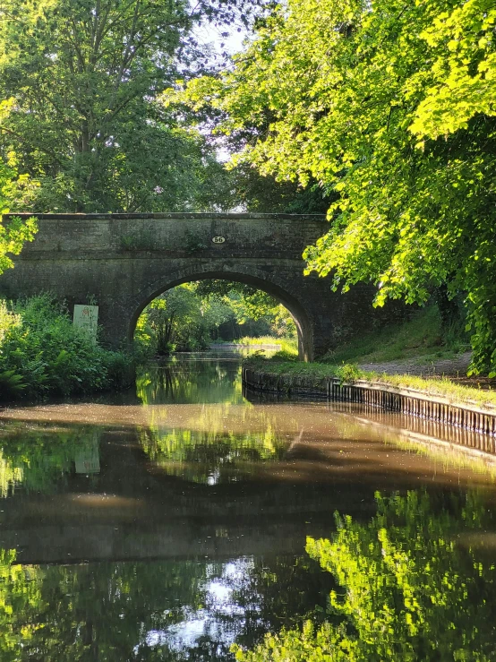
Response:
M21 214L29 216L29 214ZM327 226L322 216L289 214L38 214L38 236L22 251L35 254L167 257L281 255L300 259Z

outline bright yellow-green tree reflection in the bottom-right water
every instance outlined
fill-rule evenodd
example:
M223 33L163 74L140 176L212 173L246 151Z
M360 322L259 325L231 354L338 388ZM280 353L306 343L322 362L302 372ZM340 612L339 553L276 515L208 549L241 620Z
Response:
M328 623L267 635L254 651L235 646L236 659L496 659L495 566L459 544L490 522L483 504L470 493L433 503L418 491L376 500L369 524L337 515L331 539L307 539L340 587Z

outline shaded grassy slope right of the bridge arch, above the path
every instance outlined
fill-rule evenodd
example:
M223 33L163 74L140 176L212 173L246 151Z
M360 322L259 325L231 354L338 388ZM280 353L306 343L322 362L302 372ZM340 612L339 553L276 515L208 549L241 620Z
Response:
M426 364L470 349L463 331L443 331L436 305L416 311L407 322L364 333L329 352L323 363L380 363L415 358Z

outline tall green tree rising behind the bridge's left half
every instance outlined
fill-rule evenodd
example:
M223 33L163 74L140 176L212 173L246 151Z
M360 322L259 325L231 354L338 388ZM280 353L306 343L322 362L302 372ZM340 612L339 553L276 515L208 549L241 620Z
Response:
M38 181L31 208L194 210L213 151L155 98L179 71L209 64L193 25L231 21L246 9L243 0L237 5L6 0L0 99L14 103L0 150L15 152L18 167Z

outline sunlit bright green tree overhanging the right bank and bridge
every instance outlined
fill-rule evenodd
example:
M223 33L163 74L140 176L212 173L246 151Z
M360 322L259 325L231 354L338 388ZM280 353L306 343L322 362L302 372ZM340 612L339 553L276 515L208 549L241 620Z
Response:
M494 22L489 0L288 0L234 69L167 96L258 127L235 163L336 196L308 271L372 281L375 305L465 293L472 369L492 374Z

